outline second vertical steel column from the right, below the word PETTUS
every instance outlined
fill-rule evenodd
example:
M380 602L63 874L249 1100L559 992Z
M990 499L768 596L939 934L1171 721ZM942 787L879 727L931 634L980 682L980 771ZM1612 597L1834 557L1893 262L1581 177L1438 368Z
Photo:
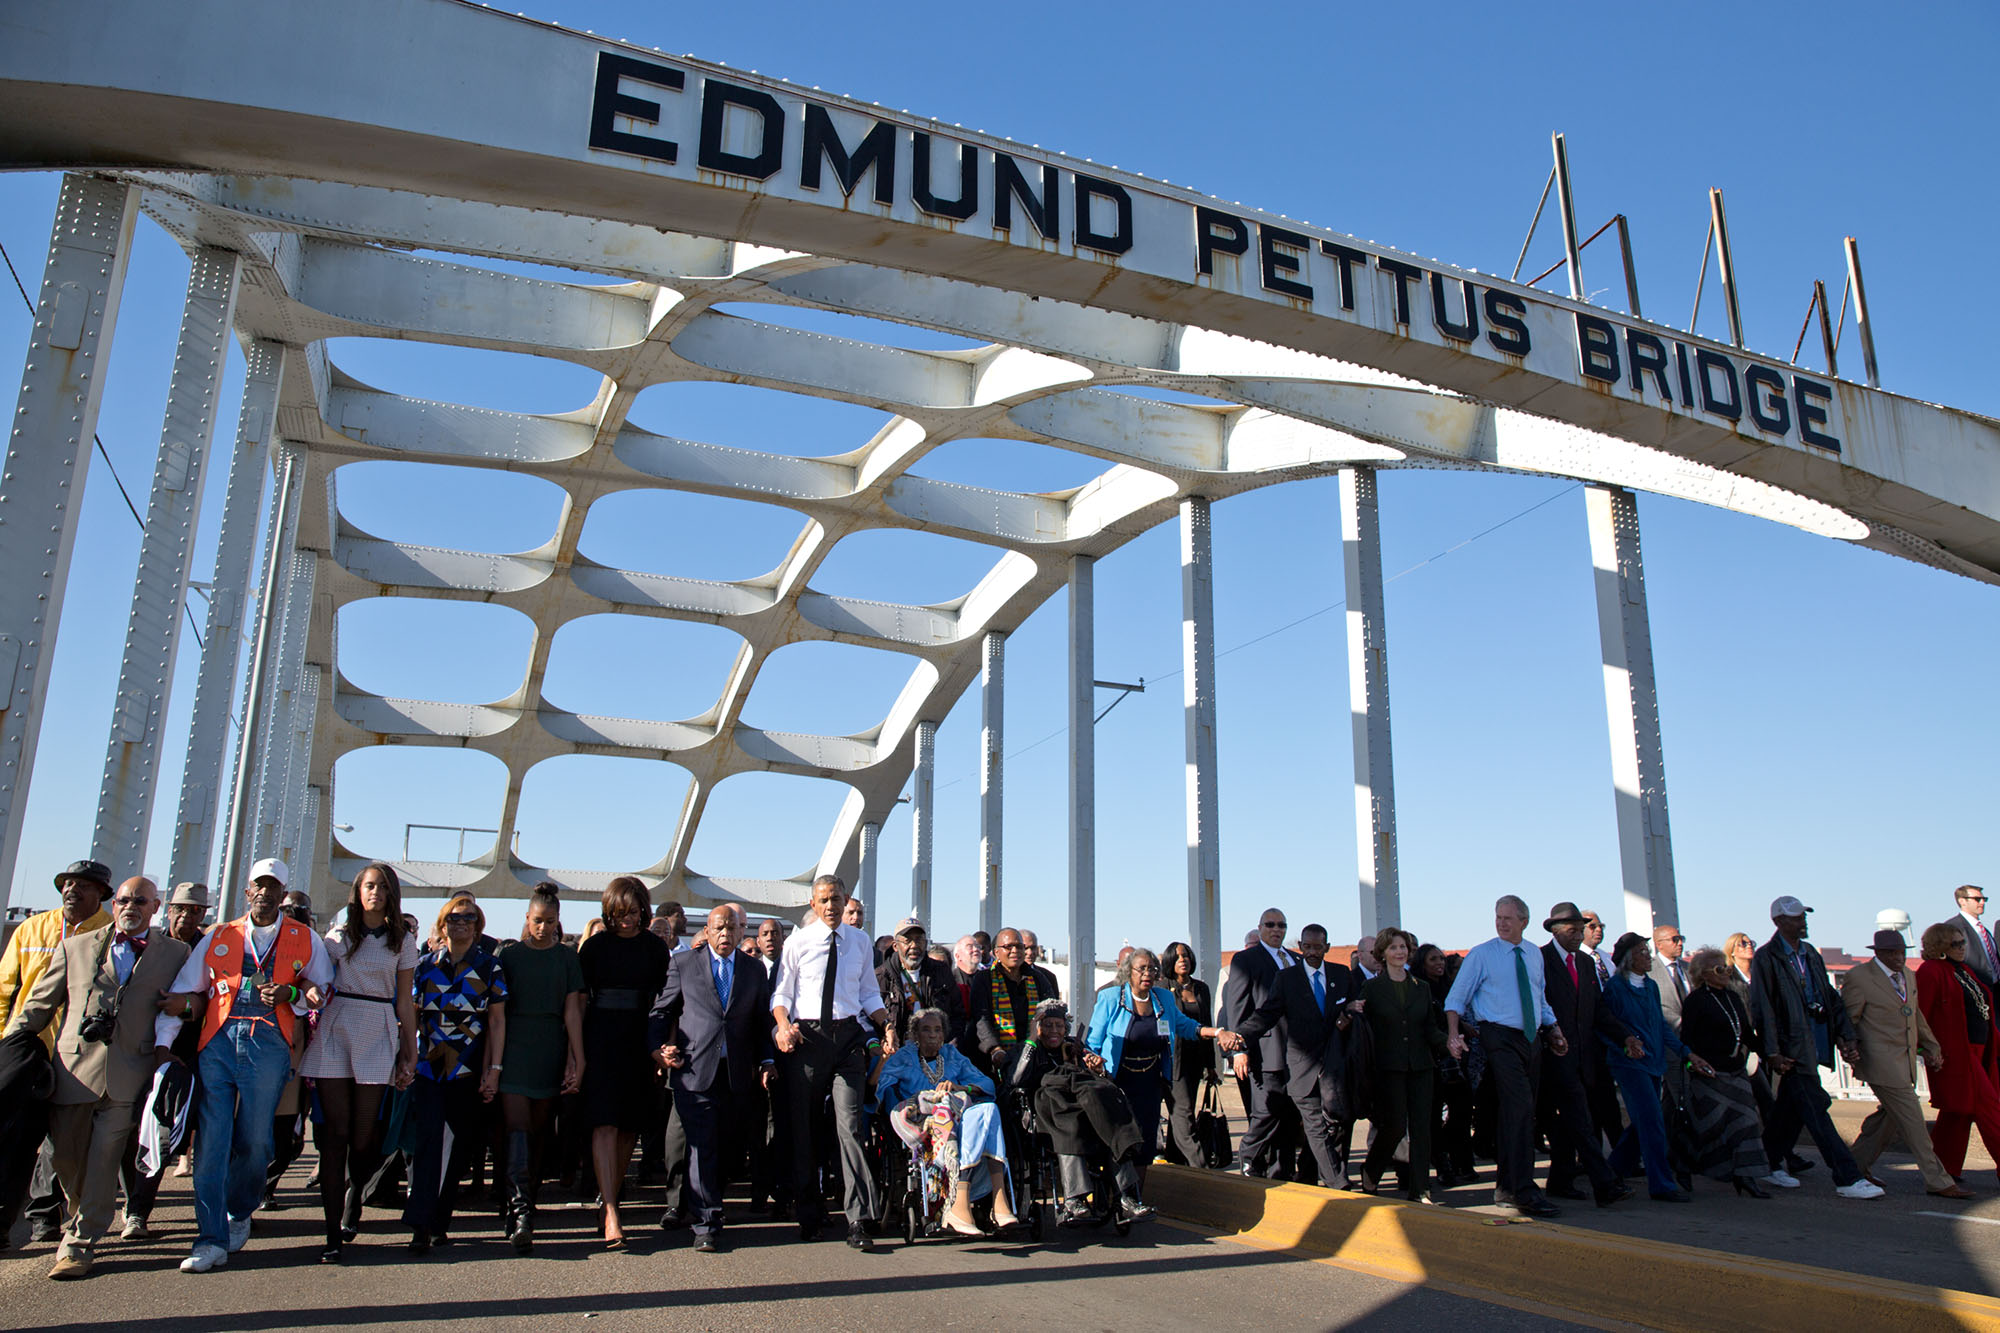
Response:
M1388 723L1388 604L1376 470L1340 468L1340 554L1348 582L1348 717L1354 725L1354 853L1362 931L1402 925L1396 877L1396 763Z

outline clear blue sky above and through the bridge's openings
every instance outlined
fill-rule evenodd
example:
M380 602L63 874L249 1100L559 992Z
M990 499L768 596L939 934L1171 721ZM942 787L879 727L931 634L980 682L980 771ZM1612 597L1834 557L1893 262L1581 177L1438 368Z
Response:
M668 52L1044 144L1224 200L1452 264L1508 272L1564 130L1578 212L1632 218L1648 314L1684 322L1708 186L1728 192L1748 342L1788 356L1812 278L1840 288L1840 238L1868 268L1884 386L2000 414L1984 272L1996 198L1986 88L2000 22L1984 4L1892 12L1860 4L1690 4L1574 12L1520 6L1324 6L1286 18L1152 4L1016 10L932 4L720 6L540 0L534 14ZM52 176L0 176L0 242L36 288ZM1560 252L1544 222L1526 272ZM1526 274L1524 274L1526 276ZM1594 298L1622 304L1614 252L1586 256ZM186 260L150 222L126 288L100 430L134 498L158 440ZM1560 278L1550 284L1560 282ZM1702 330L1726 332L1710 284ZM0 300L0 364L18 364L28 314ZM1846 366L1858 348L1844 344ZM520 410L582 404L592 376L556 362L420 346L344 344L336 358L384 388ZM1818 364L1818 352L1806 352ZM1852 374L1852 370L1850 370ZM232 358L220 436L234 424ZM636 420L690 438L834 452L880 420L782 396L650 390ZM802 442L808 440L808 442ZM364 526L502 550L534 544L550 496L480 480L494 512L414 508L384 464L344 478ZM918 470L1052 488L1092 474L1056 450L952 446ZM222 468L210 470L196 576L214 546ZM478 478L476 478L478 480ZM1554 498L1552 498L1554 496ZM1466 538L1530 510L1508 526ZM1672 807L1690 941L1768 931L1766 903L1816 905L1822 943L1856 949L1882 907L1922 927L1950 887L1992 881L2000 590L1790 528L1644 496L1644 542ZM110 723L138 528L92 466L42 729L14 901L52 901L48 875L82 855ZM666 536L660 536L660 532ZM762 506L626 496L592 514L584 548L700 576L770 568L792 518ZM1458 472L1382 478L1404 921L1464 945L1498 893L1614 909L1604 697L1582 496L1570 482ZM1266 905L1294 925L1358 925L1338 518L1332 482L1226 500L1214 514L1222 755L1224 937ZM1444 558L1430 556L1450 550ZM818 586L894 600L964 592L992 552L928 534L876 534L834 552ZM1160 689L1098 729L1098 949L1162 945L1186 929L1180 584L1172 526L1098 572L1098 675ZM1008 652L1008 919L1062 945L1066 598ZM1282 628L1288 626L1288 628ZM1280 630L1280 632L1274 632ZM188 644L192 648L192 644ZM1240 650L1236 650L1240 646ZM494 699L514 689L526 626L482 606L356 606L344 669L370 689ZM602 618L558 640L550 697L572 709L686 717L720 689L730 636ZM192 705L182 656L170 735ZM808 644L772 660L746 719L852 731L884 713L908 662ZM422 765L434 767L422 767ZM180 757L166 773L178 781ZM938 735L938 933L972 925L978 859L978 699ZM356 755L336 819L358 849L398 855L406 823L484 825L500 769L440 751ZM638 761L558 761L528 779L522 853L628 869L666 847L684 779ZM790 875L816 857L840 791L802 779L724 785L692 865ZM1984 813L1982 813L1984 811ZM148 869L168 859L162 795ZM422 835L418 835L422 837ZM908 901L906 807L884 829L882 911ZM414 847L438 855L438 845ZM518 909L498 909L510 923Z

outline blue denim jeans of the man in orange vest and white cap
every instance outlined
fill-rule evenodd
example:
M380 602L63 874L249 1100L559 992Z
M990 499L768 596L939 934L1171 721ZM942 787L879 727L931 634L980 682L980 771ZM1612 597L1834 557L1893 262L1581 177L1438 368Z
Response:
M202 1245L228 1249L230 1219L264 1201L272 1119L292 1081L292 1051L276 1023L232 1019L200 1055L200 1137L194 1153L194 1223Z

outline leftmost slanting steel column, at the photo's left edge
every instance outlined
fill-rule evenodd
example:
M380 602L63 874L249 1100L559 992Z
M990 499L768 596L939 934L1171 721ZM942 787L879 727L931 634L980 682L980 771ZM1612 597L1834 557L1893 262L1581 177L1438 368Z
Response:
M0 468L0 907L14 887L48 662L76 550L104 362L118 324L138 196L64 176Z

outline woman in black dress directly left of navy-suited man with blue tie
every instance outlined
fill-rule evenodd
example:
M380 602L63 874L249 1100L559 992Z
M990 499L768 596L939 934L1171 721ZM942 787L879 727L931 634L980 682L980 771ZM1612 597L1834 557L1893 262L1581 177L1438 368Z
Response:
M646 929L652 895L632 875L604 885L604 931L578 949L590 1003L584 1009L584 1123L590 1161L604 1197L604 1249L624 1249L618 1187L632 1165L632 1143L658 1101L646 1015L666 985L672 957L666 941Z

